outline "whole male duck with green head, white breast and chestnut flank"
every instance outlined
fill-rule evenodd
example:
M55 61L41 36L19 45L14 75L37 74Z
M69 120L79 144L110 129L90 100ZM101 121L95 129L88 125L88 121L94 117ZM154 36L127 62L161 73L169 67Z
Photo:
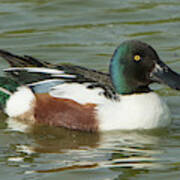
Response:
M146 43L123 42L111 59L110 75L3 50L0 56L16 66L5 70L11 79L0 78L0 104L10 117L83 131L151 129L171 122L168 107L149 85L180 90L180 75Z

